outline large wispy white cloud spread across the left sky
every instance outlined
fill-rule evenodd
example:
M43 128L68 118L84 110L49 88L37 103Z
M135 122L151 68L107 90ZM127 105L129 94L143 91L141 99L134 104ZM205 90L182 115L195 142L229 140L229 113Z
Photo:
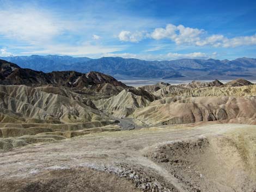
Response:
M8 46L19 55L100 55L121 51L125 47L95 45L92 39L99 40L101 36L92 33L92 29L95 31L95 23L99 21L91 21L90 17L78 20L33 5L20 8L11 5L0 9L0 19L0 38L8 42ZM74 39L74 36L79 36L79 40ZM0 51L0 54L9 53Z

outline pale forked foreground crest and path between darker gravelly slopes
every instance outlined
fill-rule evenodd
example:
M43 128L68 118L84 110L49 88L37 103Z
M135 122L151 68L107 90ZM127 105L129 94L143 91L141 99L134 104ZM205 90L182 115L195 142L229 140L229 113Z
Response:
M147 188L143 183L143 172L149 171L151 176L156 178L155 185L158 191L188 191L184 183L178 181L178 178L171 175L167 169L145 157L147 151L152 147L157 148L157 146L177 141L218 137L236 131L236 129L247 128L256 130L256 126L240 124L151 127L132 131L89 134L53 143L14 148L13 151L0 152L0 186L4 183L3 181L33 178L41 172L92 168L127 177L138 188L144 191L147 191L146 189L154 191L151 190L154 187L153 184L152 186L148 184L150 186ZM142 171L136 172L136 170ZM168 183L174 187L172 190L168 187Z

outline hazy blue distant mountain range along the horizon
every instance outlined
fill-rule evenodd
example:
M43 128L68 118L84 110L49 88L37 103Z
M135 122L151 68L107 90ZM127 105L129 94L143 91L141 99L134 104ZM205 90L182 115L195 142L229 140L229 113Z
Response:
M180 79L256 79L256 59L235 60L179 59L170 61L145 61L120 57L69 57L59 55L31 55L0 57L22 68L36 71L89 71L102 72L118 79L180 78Z

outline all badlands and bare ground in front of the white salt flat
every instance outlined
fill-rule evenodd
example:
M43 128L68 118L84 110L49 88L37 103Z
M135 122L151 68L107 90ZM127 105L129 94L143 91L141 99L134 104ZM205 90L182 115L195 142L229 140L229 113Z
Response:
M0 60L0 191L256 191L256 85L134 88Z

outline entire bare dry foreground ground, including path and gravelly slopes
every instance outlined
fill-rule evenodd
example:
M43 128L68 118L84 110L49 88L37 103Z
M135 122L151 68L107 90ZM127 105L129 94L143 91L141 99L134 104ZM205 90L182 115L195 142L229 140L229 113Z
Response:
M0 191L256 191L256 126L151 127L0 152Z

